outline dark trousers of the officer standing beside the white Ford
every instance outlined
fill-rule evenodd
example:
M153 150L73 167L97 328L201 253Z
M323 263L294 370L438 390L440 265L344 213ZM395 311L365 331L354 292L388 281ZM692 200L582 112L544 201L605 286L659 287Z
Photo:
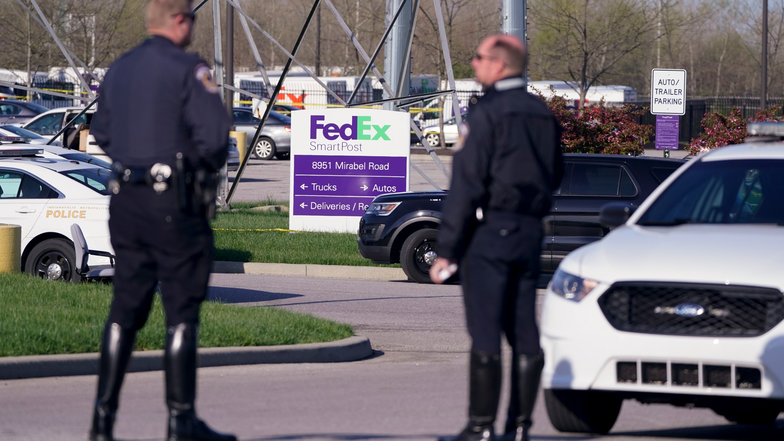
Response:
M535 322L542 221L488 213L460 263L472 351L500 355L501 333L518 354L539 353Z

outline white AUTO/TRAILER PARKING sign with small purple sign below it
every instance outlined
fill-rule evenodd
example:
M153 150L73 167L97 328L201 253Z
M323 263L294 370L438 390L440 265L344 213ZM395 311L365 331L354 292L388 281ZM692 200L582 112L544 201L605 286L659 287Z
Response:
M656 115L655 148L669 158L670 150L678 148L680 115L686 113L686 71L651 71L651 113Z

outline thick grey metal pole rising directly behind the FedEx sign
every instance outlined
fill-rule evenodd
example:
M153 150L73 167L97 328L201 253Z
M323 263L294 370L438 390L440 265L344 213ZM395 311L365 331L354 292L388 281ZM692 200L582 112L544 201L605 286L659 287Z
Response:
M402 3L407 0L387 0L387 24L394 17L395 12ZM399 76L401 69L404 69L408 64L408 34L411 30L411 5L412 2L403 6L401 13L397 16L394 24L392 24L392 31L387 38L387 44L384 47L384 78L389 82L392 91L401 90L403 96L408 95L411 83L410 70L404 72L404 75ZM400 81L402 79L402 81ZM385 98L394 98L387 96ZM384 103L384 110L397 110L394 103Z

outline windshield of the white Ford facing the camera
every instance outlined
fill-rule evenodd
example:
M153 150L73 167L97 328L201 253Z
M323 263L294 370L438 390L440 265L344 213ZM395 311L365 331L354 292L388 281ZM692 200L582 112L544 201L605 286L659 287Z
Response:
M784 160L702 161L659 195L639 225L784 225Z

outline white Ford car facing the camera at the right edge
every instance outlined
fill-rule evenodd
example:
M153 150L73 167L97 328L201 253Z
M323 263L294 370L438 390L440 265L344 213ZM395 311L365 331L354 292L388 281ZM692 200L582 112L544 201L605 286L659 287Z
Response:
M564 258L542 316L542 383L563 432L606 433L623 399L771 424L784 410L784 144L682 166Z

